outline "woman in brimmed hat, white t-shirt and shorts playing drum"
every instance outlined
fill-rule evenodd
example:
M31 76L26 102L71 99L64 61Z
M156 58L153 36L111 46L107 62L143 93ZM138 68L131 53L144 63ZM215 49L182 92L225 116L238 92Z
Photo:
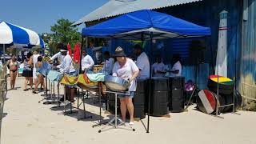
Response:
M126 58L126 54L122 47L118 47L115 50L114 57L117 58L117 62L114 63L113 76L117 76L122 79L126 79L130 82L130 88L128 90L130 95L121 95L120 98L120 109L122 114L122 121L126 122L126 110L128 109L130 114L130 125L134 125L134 105L132 98L134 98L134 93L136 91L136 81L134 80L138 77L139 70L133 60Z

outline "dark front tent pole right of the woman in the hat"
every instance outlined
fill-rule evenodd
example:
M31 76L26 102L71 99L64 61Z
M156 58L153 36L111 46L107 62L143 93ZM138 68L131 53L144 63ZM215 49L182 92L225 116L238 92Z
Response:
M151 90L151 79L152 79L152 74L151 74L151 62L152 62L152 50L153 50L153 33L150 32L150 86L149 86L149 102L148 102L148 110L147 110L147 130L146 133L150 133L150 100L151 100L151 94L152 94L152 90Z

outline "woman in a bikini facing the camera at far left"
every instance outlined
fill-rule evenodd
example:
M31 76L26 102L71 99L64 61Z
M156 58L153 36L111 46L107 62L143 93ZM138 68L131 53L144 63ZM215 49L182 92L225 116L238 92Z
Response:
M10 69L10 90L14 90L18 71L18 62L14 54L11 56L10 61L8 61L8 68Z

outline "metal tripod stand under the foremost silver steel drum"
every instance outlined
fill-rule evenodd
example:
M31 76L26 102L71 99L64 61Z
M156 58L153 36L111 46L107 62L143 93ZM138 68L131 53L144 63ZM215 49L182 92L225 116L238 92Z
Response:
M106 126L113 126L112 129L118 129L119 128L118 126L121 126L124 124L122 122L122 120L120 118L118 118L118 94L123 94L123 95L128 95L128 94L118 93L118 92L114 92L114 91L106 91L106 93L112 93L115 96L114 118L112 118L110 120L110 122L108 122L105 126L103 126L101 130L98 130L98 133L101 133L106 128ZM113 122L114 122L114 124L113 124ZM118 124L118 122L120 122L120 124ZM130 130L135 131L135 129L132 126L130 126L129 128L130 128ZM108 129L108 130L110 130L110 129Z

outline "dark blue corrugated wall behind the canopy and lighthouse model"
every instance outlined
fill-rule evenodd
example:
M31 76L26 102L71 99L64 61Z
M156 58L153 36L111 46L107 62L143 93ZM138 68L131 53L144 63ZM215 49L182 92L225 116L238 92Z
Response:
M241 0L205 0L202 2L193 2L181 6L167 7L158 11L174 15L175 17L185 19L189 22L194 22L201 26L209 26L212 30L212 35L206 38L206 64L199 66L198 84L200 88L206 88L207 76L213 73L212 66L215 65L216 52L218 48L218 25L219 13L222 10L229 12L228 17L228 76L233 78L235 75L239 79L240 58L241 58L241 33L242 33L242 1ZM154 54L163 54L162 58L166 63L170 62L171 55L174 52L183 52L184 58L186 55L186 46L177 46L174 39L164 39L158 42L163 42L164 46L158 50L157 44L154 45ZM156 43L158 43L156 42ZM176 42L177 43L177 42ZM185 42L186 43L186 42ZM112 40L110 42L110 51L114 52L116 46L123 46L128 54L132 53L131 42L122 40ZM148 47L148 45L146 45ZM178 48L183 48L178 50ZM148 50L146 49L146 52ZM183 63L183 75L186 80L192 79L195 81L195 66L190 66L188 63Z

